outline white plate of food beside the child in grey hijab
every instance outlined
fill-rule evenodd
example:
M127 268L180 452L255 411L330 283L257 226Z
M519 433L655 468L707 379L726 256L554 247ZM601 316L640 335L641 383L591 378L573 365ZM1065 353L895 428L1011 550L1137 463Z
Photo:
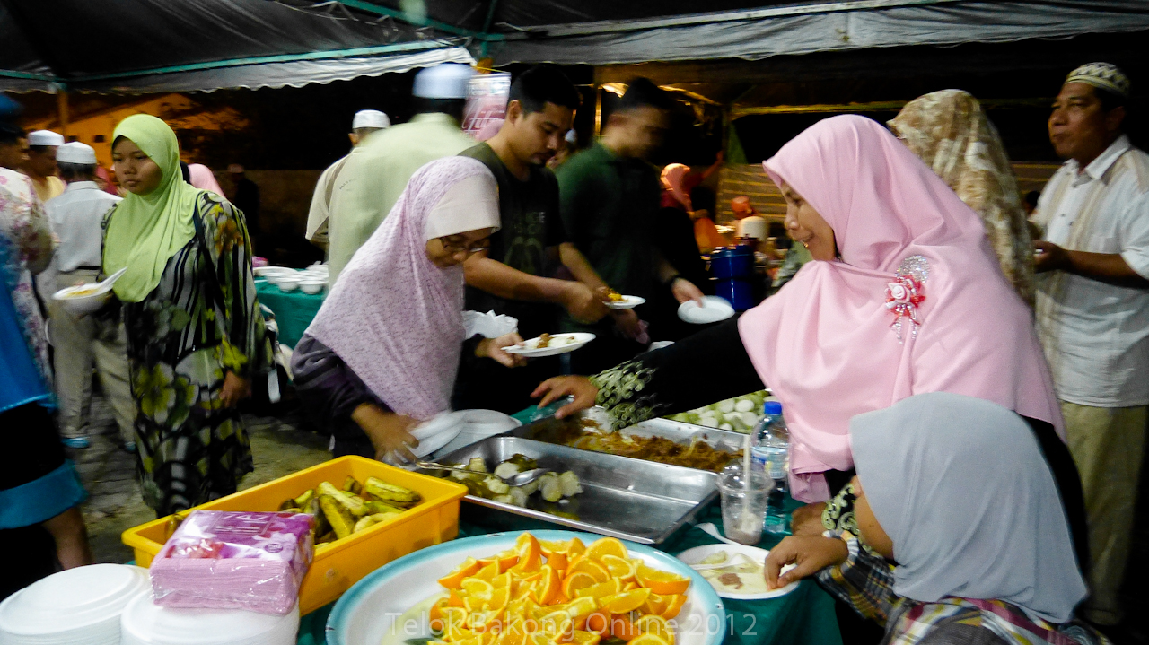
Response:
M765 600L786 596L797 589L792 582L781 589L766 589L765 561L770 551L741 544L708 544L678 554L715 589L718 596L732 600ZM788 572L794 565L782 567Z

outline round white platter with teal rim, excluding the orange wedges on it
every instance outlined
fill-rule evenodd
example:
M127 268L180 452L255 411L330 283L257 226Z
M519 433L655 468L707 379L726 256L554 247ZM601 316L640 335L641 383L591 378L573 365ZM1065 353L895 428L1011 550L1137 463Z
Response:
M539 539L562 541L578 537L591 544L601 535L565 530L531 531ZM447 575L468 557L486 558L515 545L515 533L495 533L429 546L376 569L344 593L327 617L329 645L401 644L410 638L430 636L426 614L415 619L414 630L403 615L416 605L439 596L438 578ZM647 565L691 577L686 604L677 621L677 645L718 645L726 634L726 611L699 573L673 557L649 546L625 543L632 558Z

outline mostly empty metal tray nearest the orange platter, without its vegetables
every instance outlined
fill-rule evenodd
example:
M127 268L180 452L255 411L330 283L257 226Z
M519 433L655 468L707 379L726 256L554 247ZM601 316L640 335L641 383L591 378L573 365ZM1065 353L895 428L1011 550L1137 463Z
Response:
M577 483L578 492L557 502L547 502L543 492L553 491L537 490L525 496L525 505L519 506L508 499L509 496L500 495L501 500L487 499L473 495L476 491L472 489L472 495L464 498L466 502L640 544L662 543L718 496L717 475L714 473L514 436L483 440L447 454L439 463L466 465L476 458L481 459L491 472L504 463L530 460L531 466L569 477L562 483ZM566 473L573 473L577 480ZM458 481L466 483L465 474L444 474L456 480L463 477ZM475 479L481 481L484 477L477 473ZM496 479L487 477L487 481ZM472 481L469 488L473 484ZM501 490L498 483L494 485ZM555 499L557 496L548 497Z

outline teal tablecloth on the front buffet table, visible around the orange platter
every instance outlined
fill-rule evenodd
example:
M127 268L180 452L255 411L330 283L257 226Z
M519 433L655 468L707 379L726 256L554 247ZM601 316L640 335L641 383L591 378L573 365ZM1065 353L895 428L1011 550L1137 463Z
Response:
M554 410L543 411L554 413ZM515 418L523 422L533 420L539 414L534 407L524 410ZM801 505L789 499L791 510ZM475 514L469 513L472 518ZM719 530L723 528L722 508L715 503L704 510L697 519L699 523L712 522ZM547 524L548 528L562 527ZM498 528L484 526L480 521L460 521L458 537L471 537L496 533ZM781 536L763 534L758 544L762 549L772 549ZM687 549L703 544L717 544L718 541L695 528L688 528L672 536L657 549L677 555ZM726 607L726 637L723 645L841 645L842 638L838 630L838 619L834 616L834 599L831 598L812 580L804 580L799 588L780 598L769 600L730 600L724 598ZM323 645L324 627L333 605L327 605L303 616L300 623L299 645Z

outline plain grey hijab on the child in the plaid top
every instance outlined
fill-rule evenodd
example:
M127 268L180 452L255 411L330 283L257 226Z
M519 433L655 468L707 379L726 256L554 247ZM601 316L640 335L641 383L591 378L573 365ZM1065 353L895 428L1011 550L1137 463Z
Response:
M1086 596L1052 473L1017 413L948 393L850 420L854 465L894 543L894 592L998 599L1067 622Z

